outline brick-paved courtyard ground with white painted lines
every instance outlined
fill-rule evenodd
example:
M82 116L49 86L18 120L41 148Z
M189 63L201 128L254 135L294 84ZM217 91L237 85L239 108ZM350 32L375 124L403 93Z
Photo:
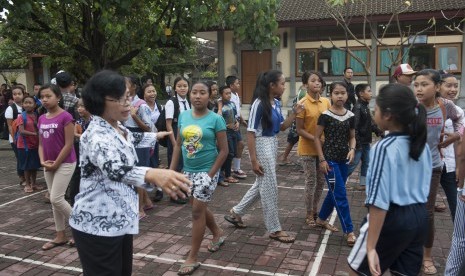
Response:
M285 147L284 134L280 135L280 146L281 153ZM162 159L164 164L165 160ZM295 152L291 153L291 160L297 161ZM13 152L1 141L0 275L82 274L76 249L40 250L54 235L51 207L44 203L44 192L27 195L20 189L14 166ZM249 226L246 229L235 229L223 219L254 181L248 158L244 158L242 167L249 177L228 188L218 187L210 204L224 229L226 243L220 251L208 252L206 245L211 235L207 233L199 256L202 266L194 275L348 275L346 258L350 248L345 245L341 232L330 234L304 223L303 179L296 165L277 168L280 220L284 230L296 235L295 243L281 244L268 238L259 203L244 217ZM42 173L39 177L44 182ZM349 182L356 181L352 178ZM357 233L366 214L362 206L364 197L362 192L348 191ZM440 200L445 202L443 197ZM174 205L164 198L148 215L140 223L140 234L134 237L133 274L175 275L190 249L190 208ZM334 219L340 229L335 214ZM439 270L437 275L444 271L451 235L449 212L436 213L433 254Z

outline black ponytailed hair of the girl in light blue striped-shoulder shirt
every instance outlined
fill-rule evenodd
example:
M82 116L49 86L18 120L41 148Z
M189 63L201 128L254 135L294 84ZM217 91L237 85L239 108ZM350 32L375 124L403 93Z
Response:
M379 90L376 104L382 114L390 113L410 136L409 155L418 161L426 145L426 109L407 86L392 83Z

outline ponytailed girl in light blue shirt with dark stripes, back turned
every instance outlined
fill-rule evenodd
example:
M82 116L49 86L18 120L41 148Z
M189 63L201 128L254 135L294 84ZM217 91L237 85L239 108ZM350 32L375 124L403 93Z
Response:
M426 109L401 84L382 87L374 120L389 134L370 151L368 216L348 257L358 275L418 275L426 240L426 202L432 158Z

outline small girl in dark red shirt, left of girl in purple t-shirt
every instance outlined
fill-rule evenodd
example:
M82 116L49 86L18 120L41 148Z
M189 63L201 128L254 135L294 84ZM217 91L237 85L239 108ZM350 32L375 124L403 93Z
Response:
M41 190L36 183L37 170L40 168L39 159L39 136L37 128L37 115L34 112L36 103L34 97L26 96L23 99L23 109L18 116L19 133L16 139L18 148L18 159L21 170L24 171L26 186L24 192L32 193Z

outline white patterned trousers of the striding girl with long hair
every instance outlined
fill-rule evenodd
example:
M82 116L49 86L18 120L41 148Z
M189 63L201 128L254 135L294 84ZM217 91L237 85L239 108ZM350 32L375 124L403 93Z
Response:
M257 137L255 148L257 160L263 168L264 175L257 175L255 183L241 202L233 207L233 211L243 216L247 209L260 198L266 230L274 233L282 230L278 218L278 181L276 179L278 140L276 137Z

